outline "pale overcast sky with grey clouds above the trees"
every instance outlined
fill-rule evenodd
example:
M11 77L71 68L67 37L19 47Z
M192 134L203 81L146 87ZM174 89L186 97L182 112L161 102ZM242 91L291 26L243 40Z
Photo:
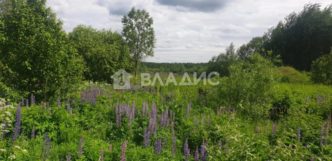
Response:
M312 0L328 6L329 0ZM207 62L277 25L307 0L48 0L67 32L79 24L121 32L130 8L146 9L154 19L157 44L152 62Z

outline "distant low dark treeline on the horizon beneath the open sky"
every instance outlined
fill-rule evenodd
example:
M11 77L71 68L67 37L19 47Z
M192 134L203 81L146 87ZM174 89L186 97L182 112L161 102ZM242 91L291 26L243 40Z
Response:
M207 63L152 63L141 62L141 72L148 73L202 73L207 69Z

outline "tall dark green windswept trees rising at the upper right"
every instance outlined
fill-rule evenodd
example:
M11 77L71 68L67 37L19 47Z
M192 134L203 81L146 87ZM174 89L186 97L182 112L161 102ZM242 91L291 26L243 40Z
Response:
M288 15L263 37L263 54L272 50L274 56L281 56L283 64L308 71L315 59L330 53L332 6L321 10L318 3L307 4L302 12Z

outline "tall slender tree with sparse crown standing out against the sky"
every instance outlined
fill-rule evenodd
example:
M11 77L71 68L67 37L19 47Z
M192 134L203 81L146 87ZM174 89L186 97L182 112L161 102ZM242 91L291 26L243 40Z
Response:
M122 23L122 35L134 60L136 77L139 61L154 55L156 39L155 30L152 28L153 19L146 10L133 7L128 16L123 16Z

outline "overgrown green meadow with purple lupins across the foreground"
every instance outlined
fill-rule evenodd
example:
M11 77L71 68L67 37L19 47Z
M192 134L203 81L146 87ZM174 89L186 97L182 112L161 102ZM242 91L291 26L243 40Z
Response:
M9 115L1 115L0 158L331 160L331 86L277 84L270 90L276 108L255 121L241 108L222 106L213 97L216 88L202 85L114 91L85 84L75 99L49 106L1 100Z

